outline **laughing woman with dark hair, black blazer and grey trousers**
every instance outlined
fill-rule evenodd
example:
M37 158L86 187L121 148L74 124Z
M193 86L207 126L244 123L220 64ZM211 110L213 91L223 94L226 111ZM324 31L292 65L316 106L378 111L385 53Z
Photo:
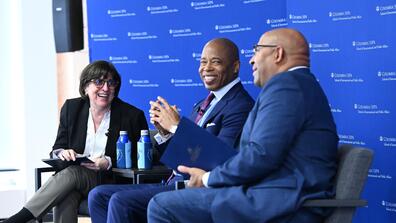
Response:
M55 222L77 222L82 198L98 181L111 182L111 167L116 163L116 142L121 130L128 131L132 142L132 160L136 164L136 142L140 130L148 129L143 111L118 98L121 78L106 61L89 64L81 73L80 98L69 99L62 107L58 135L51 157L74 160L78 154L94 163L69 166L49 180L25 204L4 222L27 222L40 218L52 207ZM98 174L100 173L100 174Z

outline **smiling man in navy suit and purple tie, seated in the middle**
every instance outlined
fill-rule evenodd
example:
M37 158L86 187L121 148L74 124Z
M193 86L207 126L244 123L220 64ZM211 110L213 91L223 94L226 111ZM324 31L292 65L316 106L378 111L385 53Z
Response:
M209 41L203 51L199 73L211 94L207 99L194 106L191 120L206 131L217 136L233 147L239 141L242 126L246 121L254 101L243 88L238 78L239 51L230 40L220 38ZM160 100L163 98L159 97ZM151 102L151 110L161 106ZM179 120L175 107L168 110L163 121ZM156 126L157 123L153 123ZM166 140L172 133L159 128L156 136L160 153L166 148ZM164 146L165 144L165 146ZM91 219L98 222L145 222L146 209L152 196L159 192L174 189L174 181L182 179L176 176L166 185L103 185L95 188L88 197Z

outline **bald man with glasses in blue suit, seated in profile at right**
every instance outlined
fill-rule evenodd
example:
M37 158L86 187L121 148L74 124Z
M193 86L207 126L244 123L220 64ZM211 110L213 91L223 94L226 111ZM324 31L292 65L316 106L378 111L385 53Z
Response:
M322 222L327 210L301 205L334 195L338 136L309 69L307 41L293 29L268 31L250 63L262 90L243 127L239 153L210 172L179 166L191 176L188 188L154 196L149 223ZM186 122L181 119L176 131L201 131Z

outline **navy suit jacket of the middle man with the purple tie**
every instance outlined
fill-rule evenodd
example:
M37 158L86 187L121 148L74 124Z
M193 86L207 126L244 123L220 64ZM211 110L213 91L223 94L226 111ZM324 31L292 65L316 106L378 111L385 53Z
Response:
M199 106L203 101L201 100L194 105L190 116L192 121L197 117ZM253 105L253 98L239 82L215 105L202 127L228 145L237 146L242 126L245 124Z

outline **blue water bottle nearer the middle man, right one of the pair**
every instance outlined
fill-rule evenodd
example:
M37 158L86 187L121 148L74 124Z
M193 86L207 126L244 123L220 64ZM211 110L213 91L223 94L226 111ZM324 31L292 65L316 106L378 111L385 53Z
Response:
M140 131L140 139L138 142L138 168L139 169L151 169L152 161L152 144L148 130Z

